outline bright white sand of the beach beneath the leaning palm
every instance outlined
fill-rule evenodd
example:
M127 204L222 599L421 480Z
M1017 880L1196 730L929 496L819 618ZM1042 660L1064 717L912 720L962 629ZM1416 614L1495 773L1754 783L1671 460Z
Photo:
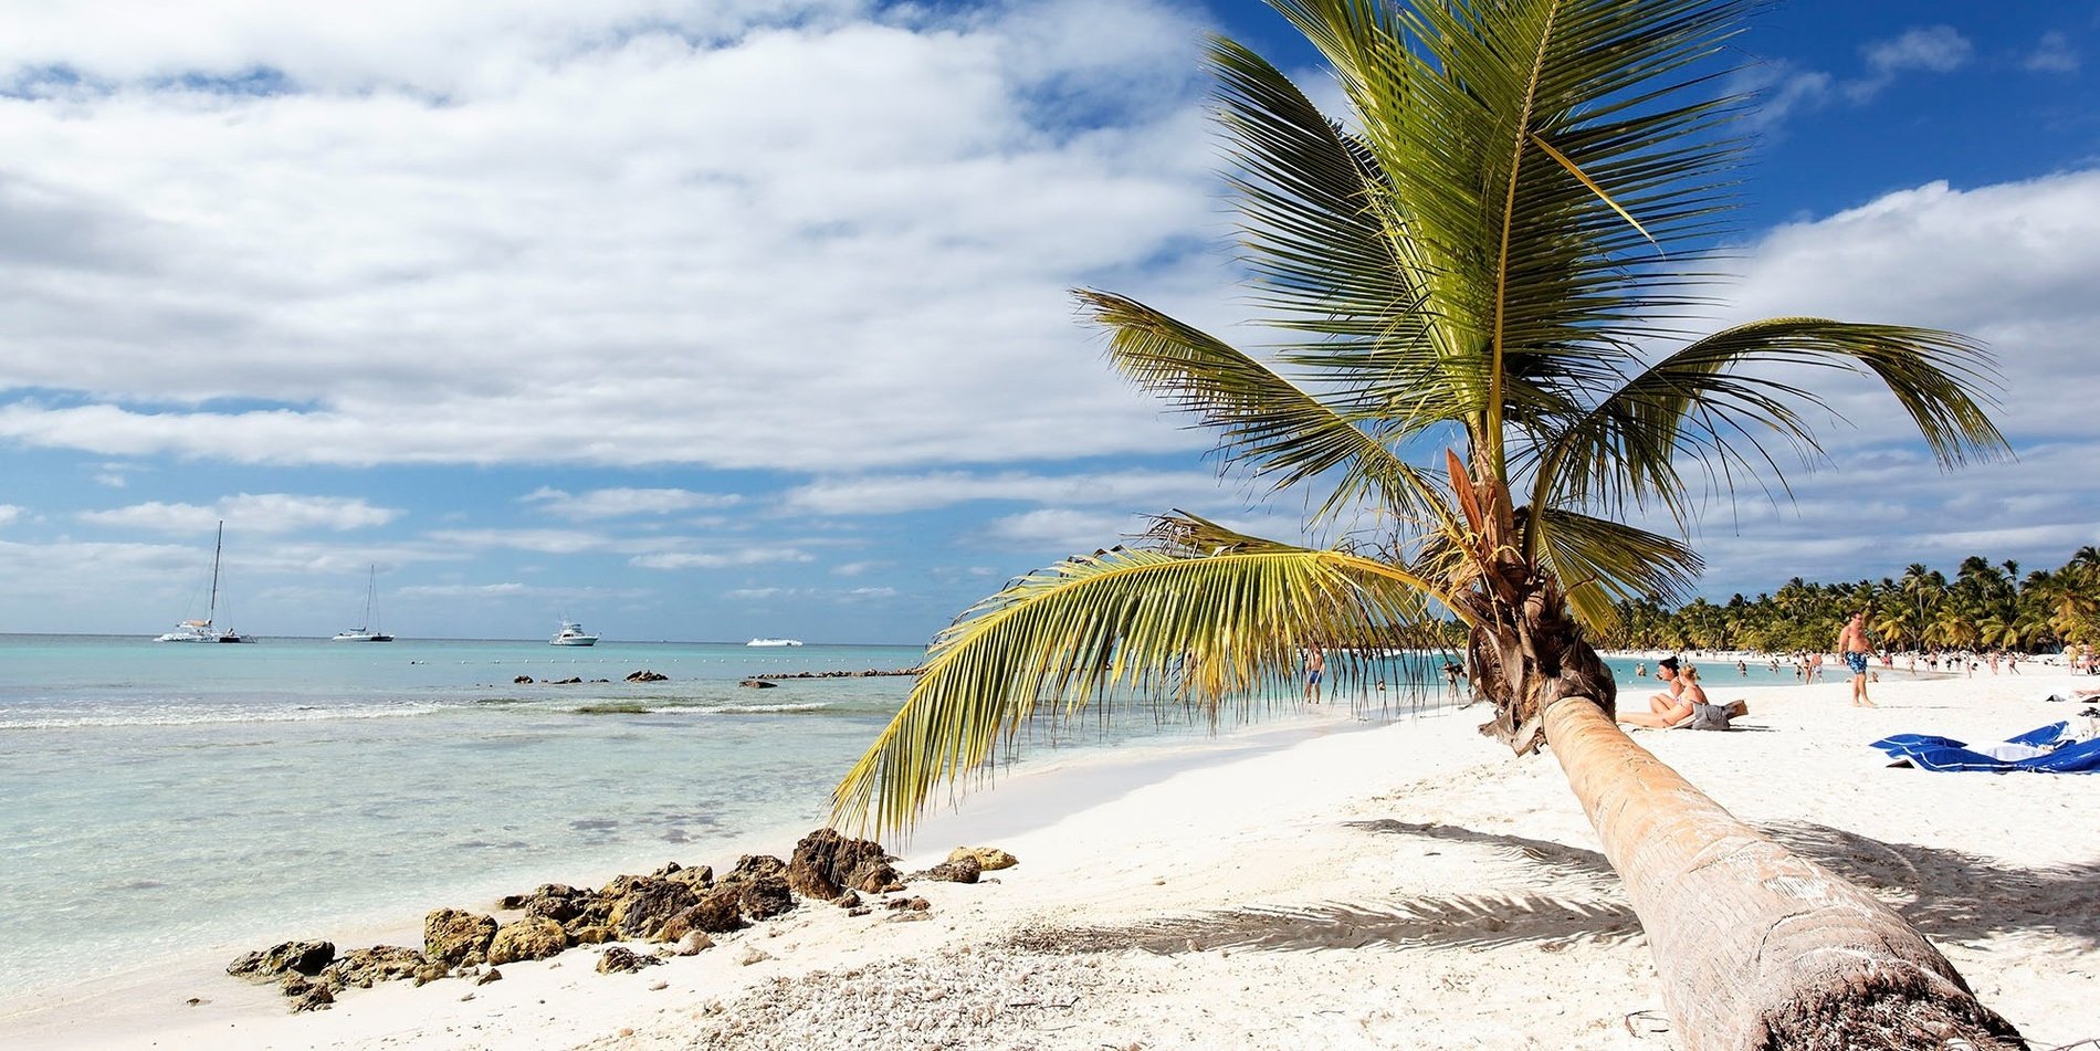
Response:
M1882 707L1854 709L1844 682L1739 690L1730 671L1716 665L1709 692L1751 699L1754 730L1640 741L1903 910L2037 1049L2100 1036L2100 776L1928 774L1867 749L1892 732L2006 738L2085 707L2035 696L2100 680L1890 682L1873 686ZM1002 780L930 820L905 862L972 843L1021 866L914 883L926 921L804 902L638 973L594 973L586 946L479 988L353 988L309 1015L227 978L202 1007L0 1020L0 1043L1670 1047L1646 942L1558 766L1510 759L1480 717L1336 722ZM1021 931L1107 948L1008 946ZM1132 942L1159 952L1113 948ZM769 959L743 963L752 948Z

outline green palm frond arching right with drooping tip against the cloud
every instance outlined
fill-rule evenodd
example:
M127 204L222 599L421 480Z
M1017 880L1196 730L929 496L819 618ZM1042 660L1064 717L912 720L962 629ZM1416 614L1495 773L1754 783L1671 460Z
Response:
M1995 373L1989 352L1972 340L1905 325L1777 317L1695 340L1571 417L1533 453L1533 506L1617 512L1653 499L1684 522L1684 464L1726 485L1737 472L1779 476L1781 449L1821 457L1823 445L1800 409L1825 403L1798 380L1745 371L1760 365L1873 376L1917 422L1942 466L2008 449L1978 401Z

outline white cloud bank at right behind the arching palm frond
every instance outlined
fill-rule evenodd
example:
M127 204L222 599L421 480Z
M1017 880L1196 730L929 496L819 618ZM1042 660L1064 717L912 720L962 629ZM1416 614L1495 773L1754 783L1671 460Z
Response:
M1942 474L1884 388L1842 371L1791 371L1833 409L1810 415L1833 464L1789 470L1796 501L1779 510L1743 485L1735 514L1712 508L1699 537L1712 585L1880 579L1919 558L1968 554L2056 566L2100 541L2100 415L2090 409L2100 403L2100 170L1888 193L1774 229L1739 266L1745 277L1724 292L1730 310L1716 325L1814 315L1980 338L2001 369L1995 417L2018 459Z

